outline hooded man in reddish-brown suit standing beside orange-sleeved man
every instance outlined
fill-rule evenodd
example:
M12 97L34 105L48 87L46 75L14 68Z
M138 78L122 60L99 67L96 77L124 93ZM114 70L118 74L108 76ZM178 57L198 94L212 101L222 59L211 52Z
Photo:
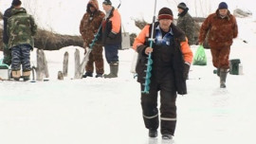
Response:
M98 32L101 22L105 14L99 9L99 4L97 0L90 0L87 4L86 13L83 15L80 24L80 33L82 34L82 39L84 41L84 49L86 53L86 47L92 43L94 35ZM100 41L99 41L100 42ZM85 66L86 73L82 76L93 77L94 63L96 66L96 78L102 78L104 73L104 64L102 58L102 45L96 42L93 45L92 52L89 55L89 61Z

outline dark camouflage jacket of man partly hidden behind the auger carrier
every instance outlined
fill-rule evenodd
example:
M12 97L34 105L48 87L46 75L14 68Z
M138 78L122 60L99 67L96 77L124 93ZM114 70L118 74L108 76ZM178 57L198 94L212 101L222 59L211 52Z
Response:
M189 39L189 45L194 44L194 22L192 16L189 14L188 10L184 10L178 15L177 27L183 30Z

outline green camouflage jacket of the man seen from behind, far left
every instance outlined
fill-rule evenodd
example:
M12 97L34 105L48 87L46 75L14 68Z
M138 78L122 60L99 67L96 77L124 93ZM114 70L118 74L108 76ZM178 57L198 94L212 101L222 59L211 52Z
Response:
M33 36L37 26L34 18L27 14L26 9L11 9L11 17L8 20L9 48L15 45L31 45L34 47Z

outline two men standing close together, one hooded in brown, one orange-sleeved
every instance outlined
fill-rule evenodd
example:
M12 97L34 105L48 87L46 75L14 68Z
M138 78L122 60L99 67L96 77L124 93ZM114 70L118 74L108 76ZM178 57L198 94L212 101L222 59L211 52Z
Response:
M84 49L90 47L93 40L97 38L89 61L85 66L85 74L82 76L93 77L94 63L96 78L117 78L119 73L119 46L121 45L121 18L118 9L112 6L110 0L104 0L102 7L104 14L99 9L97 0L90 0L86 7L86 13L82 17L80 33L84 41ZM100 30L99 30L100 29ZM110 73L104 74L102 58L102 46L104 46L106 61L110 66Z

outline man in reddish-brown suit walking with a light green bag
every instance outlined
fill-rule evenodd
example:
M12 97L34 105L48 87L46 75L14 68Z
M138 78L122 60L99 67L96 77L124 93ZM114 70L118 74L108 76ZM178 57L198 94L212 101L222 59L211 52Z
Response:
M200 29L199 44L202 45L209 32L209 45L212 63L220 77L220 87L226 87L229 69L230 45L237 37L238 27L235 17L230 14L225 2L219 4L215 13L210 14Z

